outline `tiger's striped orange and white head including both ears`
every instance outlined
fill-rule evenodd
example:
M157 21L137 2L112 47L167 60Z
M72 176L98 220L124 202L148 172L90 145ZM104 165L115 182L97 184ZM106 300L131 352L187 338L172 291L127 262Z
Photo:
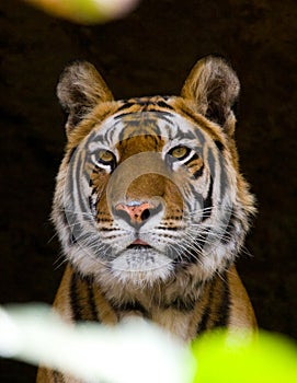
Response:
M53 219L66 258L121 286L195 274L206 280L239 253L254 212L238 169L232 106L239 81L208 56L180 96L114 101L85 61L57 88L68 114Z

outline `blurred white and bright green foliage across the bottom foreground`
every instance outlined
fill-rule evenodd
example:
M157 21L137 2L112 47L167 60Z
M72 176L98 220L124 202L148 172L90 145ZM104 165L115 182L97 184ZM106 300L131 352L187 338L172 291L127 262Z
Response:
M0 306L0 356L92 383L297 383L297 346L281 335L220 330L190 350L139 318L69 326L44 305Z

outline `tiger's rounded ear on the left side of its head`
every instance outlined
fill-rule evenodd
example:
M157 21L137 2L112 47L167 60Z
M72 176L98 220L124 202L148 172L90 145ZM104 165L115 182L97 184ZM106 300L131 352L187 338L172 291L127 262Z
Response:
M57 85L57 95L68 114L66 131L73 129L99 103L113 101L102 77L88 61L75 61L66 67Z

